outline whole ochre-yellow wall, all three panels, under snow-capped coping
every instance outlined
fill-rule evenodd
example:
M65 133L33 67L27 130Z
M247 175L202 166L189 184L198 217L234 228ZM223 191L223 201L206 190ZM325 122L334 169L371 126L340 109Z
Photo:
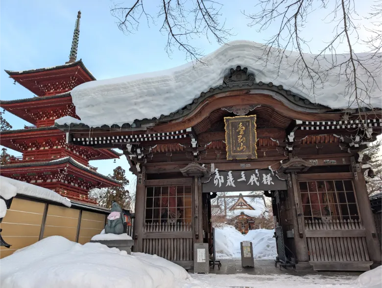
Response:
M0 246L0 259L39 240L45 205L33 200L13 199L11 209L0 223L1 236L12 246L9 249ZM49 204L44 238L57 235L75 241L79 214L79 209ZM78 242L87 243L99 234L105 227L105 219L105 214L83 210Z

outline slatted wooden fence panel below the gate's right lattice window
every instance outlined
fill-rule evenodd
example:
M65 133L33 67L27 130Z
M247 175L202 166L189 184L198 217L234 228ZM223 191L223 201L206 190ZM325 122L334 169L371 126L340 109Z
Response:
M311 262L370 261L361 221L309 220L305 230Z

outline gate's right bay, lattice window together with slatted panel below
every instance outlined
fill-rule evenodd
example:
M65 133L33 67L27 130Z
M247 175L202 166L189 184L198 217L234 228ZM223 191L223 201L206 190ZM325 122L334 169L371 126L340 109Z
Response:
M300 181L305 235L314 270L370 270L352 180Z

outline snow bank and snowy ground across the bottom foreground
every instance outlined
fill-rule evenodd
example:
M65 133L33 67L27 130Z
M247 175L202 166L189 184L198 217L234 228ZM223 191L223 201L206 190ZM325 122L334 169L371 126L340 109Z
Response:
M156 255L45 238L0 260L1 288L381 288L382 266L335 275L189 274Z

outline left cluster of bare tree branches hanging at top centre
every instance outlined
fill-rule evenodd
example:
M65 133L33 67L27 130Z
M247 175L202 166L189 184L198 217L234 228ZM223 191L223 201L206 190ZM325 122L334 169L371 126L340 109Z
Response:
M158 0L158 13L151 16L144 10L143 0L134 0L128 7L114 4L111 14L117 19L118 28L126 34L138 30L141 17L144 16L147 24L162 23L160 32L167 35L165 50L170 56L174 49L186 53L187 60L201 59L203 52L192 44L192 40L205 36L210 41L223 45L233 34L231 29L225 27L221 21L220 9L222 4L213 0Z

